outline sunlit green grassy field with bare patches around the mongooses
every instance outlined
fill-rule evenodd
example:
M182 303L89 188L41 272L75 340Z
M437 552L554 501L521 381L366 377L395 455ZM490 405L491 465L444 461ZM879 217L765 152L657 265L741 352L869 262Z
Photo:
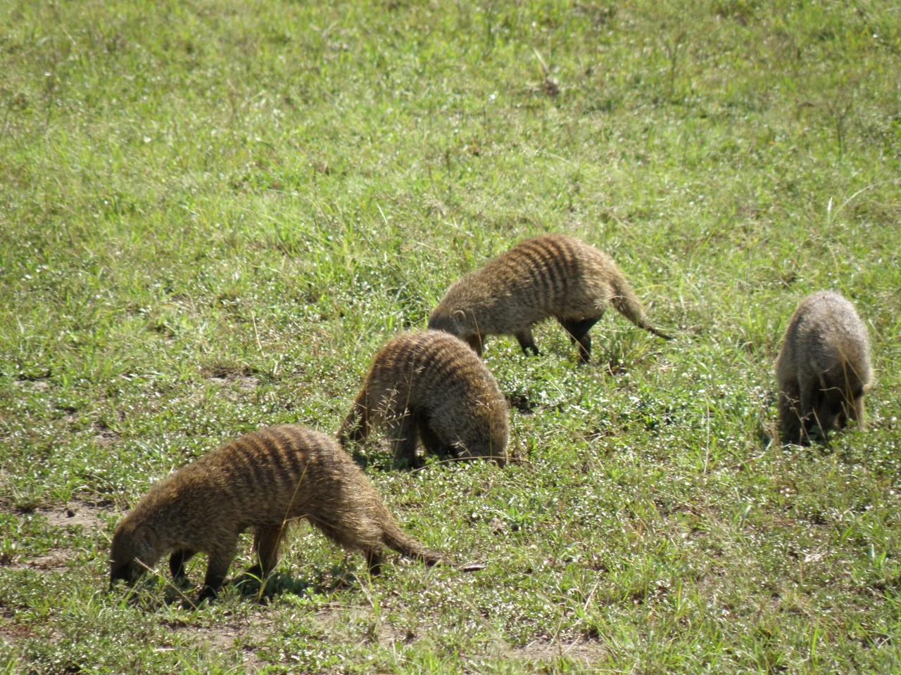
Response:
M899 72L888 0L0 0L0 672L901 671ZM382 343L545 232L677 338L490 339L518 464L369 444L454 564L369 579L302 526L263 601L108 591L151 482L333 432ZM870 428L779 446L824 288Z

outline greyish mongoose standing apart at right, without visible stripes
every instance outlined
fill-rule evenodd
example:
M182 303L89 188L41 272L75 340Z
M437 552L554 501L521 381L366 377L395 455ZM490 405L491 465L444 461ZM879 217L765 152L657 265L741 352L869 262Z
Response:
M779 428L783 442L806 443L819 427L864 428L863 395L872 379L869 339L851 302L823 291L802 300L776 359Z

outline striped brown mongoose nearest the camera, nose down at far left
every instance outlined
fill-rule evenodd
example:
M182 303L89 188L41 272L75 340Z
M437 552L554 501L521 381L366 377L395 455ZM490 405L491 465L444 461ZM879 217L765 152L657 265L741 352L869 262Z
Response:
M193 555L209 555L200 599L214 597L237 553L238 536L253 528L258 563L271 572L293 520L306 518L323 535L366 555L378 574L383 546L425 563L439 556L397 527L350 456L317 431L264 428L182 467L154 484L116 527L110 583L130 585L165 554L173 578L185 578Z

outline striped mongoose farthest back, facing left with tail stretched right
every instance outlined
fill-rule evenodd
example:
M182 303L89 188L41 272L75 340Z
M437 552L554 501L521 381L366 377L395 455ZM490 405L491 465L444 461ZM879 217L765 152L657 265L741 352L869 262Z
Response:
M607 304L660 338L646 320L632 286L604 252L577 238L528 239L453 284L429 317L429 328L469 343L482 356L487 335L514 335L523 352L538 355L532 325L553 317L578 343L578 361L591 355L588 329Z

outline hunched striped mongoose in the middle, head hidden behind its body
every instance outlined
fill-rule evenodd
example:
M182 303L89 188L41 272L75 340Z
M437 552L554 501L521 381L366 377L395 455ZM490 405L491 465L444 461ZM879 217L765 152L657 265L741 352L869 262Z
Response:
M390 340L339 431L346 446L387 427L395 463L416 466L416 438L441 457L506 462L507 404L494 376L463 342L438 330Z

